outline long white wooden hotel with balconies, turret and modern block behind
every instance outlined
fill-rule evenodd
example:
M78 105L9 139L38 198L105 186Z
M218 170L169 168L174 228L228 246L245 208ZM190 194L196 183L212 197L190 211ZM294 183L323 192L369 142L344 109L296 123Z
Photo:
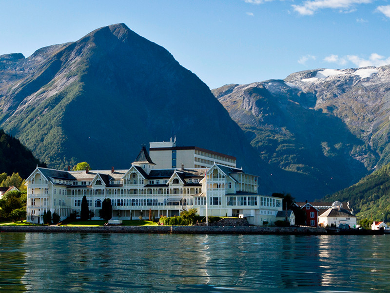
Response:
M257 194L257 176L235 167L235 158L175 142L142 147L129 169L62 171L37 167L26 180L27 221L42 223L44 211L61 219L81 209L85 195L94 219L110 198L113 219L137 219L149 210L174 216L195 208L199 215L246 217L252 225L272 224L282 199ZM156 163L155 163L156 162ZM176 165L174 165L176 164ZM177 168L177 164L180 166ZM189 167L187 167L189 166ZM68 168L69 169L69 168Z

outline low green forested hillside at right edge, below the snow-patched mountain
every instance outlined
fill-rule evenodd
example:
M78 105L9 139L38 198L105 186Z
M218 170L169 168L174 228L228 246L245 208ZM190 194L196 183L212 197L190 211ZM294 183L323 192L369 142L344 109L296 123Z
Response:
M357 217L390 222L390 163L324 200L349 201Z

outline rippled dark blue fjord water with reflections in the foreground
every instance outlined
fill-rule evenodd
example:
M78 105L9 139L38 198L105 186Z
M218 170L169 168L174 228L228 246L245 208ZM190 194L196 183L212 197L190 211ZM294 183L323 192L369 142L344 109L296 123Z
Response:
M389 292L389 241L0 233L0 292Z

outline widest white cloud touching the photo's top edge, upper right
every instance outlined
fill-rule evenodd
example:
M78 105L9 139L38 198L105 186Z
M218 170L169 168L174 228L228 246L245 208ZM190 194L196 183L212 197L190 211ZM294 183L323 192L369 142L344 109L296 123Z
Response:
M340 9L342 12L353 11L353 5L371 3L372 0L307 0L301 5L292 5L294 10L301 15L313 15L319 9Z

